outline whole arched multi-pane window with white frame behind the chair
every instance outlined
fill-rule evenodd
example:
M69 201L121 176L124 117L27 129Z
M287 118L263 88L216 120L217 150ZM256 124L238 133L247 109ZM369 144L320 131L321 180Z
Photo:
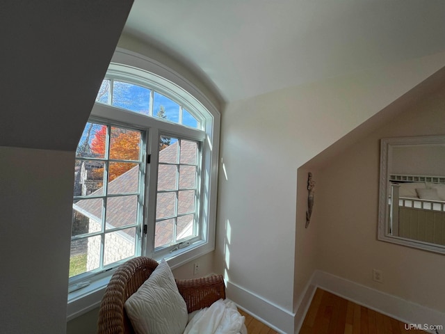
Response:
M76 150L69 300L130 257L213 250L219 122L184 78L116 51Z

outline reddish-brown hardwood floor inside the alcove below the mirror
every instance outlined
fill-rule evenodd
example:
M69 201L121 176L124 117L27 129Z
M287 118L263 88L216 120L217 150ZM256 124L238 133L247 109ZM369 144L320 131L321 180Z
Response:
M255 332L252 332L255 333ZM405 329L401 321L317 289L300 334L401 334L426 333Z

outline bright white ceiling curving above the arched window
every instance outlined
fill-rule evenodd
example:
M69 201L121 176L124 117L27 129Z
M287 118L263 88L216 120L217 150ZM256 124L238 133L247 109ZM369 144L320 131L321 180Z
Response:
M135 0L127 33L231 102L445 50L444 0Z

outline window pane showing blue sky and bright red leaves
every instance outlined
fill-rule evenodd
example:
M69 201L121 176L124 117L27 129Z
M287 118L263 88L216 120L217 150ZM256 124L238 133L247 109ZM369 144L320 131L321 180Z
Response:
M86 123L85 129L77 145L76 157L83 158L99 158L105 157L105 140L106 140L106 126Z

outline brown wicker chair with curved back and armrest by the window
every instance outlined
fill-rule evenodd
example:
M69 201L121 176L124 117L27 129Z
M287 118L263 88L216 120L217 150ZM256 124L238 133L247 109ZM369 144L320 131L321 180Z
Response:
M157 266L158 262L149 257L135 257L115 271L100 305L97 333L134 333L125 313L124 303ZM194 280L176 280L176 283L179 293L186 301L189 313L208 307L218 299L225 299L225 285L221 275Z

